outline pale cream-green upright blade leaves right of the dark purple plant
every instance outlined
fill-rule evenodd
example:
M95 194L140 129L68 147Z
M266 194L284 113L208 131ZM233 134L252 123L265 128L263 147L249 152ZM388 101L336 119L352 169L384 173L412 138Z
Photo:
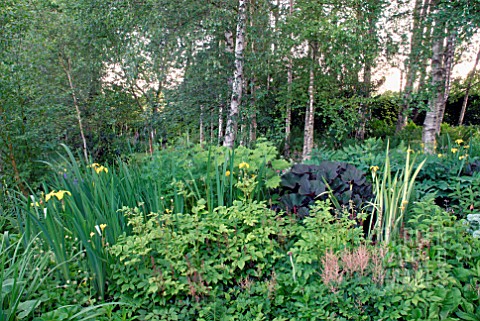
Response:
M395 171L393 176L388 145L382 174L377 174L378 166L371 167L375 200L372 204L369 236L378 242L388 244L398 232L412 197L415 179L426 162L424 159L415 167L415 157L411 158L411 153L412 150L408 149L404 168Z

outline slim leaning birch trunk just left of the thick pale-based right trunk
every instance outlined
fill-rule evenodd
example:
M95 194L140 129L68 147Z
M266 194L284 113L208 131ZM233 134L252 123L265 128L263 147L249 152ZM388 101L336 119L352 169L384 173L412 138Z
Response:
M412 99L413 83L417 78L420 46L422 44L423 29L420 28L420 17L423 5L423 0L415 0L415 7L413 9L413 25L411 30L412 36L410 40L410 54L407 63L405 63L407 80L405 83L405 91L403 92L402 106L398 112L397 126L395 128L396 133L399 133L407 125L408 121L408 110L410 107L410 100Z

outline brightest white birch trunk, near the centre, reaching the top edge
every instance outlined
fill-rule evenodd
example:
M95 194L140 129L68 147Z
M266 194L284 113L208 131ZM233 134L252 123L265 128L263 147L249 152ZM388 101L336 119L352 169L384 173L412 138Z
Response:
M243 50L245 43L246 0L238 1L237 39L235 41L235 72L232 85L232 101L225 130L223 146L233 148L238 129L238 111L242 101Z

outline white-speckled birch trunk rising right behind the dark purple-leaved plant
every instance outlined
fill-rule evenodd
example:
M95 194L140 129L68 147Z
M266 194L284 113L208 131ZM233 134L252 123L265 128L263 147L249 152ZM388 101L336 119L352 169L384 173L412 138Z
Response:
M310 66L310 81L308 84L308 108L307 112L305 113L305 130L304 130L304 138L303 138L303 152L302 152L302 159L308 160L310 159L310 154L313 150L313 136L314 136L314 119L315 119L315 105L314 105L314 98L315 98L315 57L317 46L315 43L311 44L310 47L311 56L312 56L312 64Z

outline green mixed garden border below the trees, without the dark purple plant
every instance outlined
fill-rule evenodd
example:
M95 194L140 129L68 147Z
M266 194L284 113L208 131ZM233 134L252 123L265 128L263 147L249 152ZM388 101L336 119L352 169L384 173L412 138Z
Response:
M430 157L405 144L366 144L378 144L367 147L378 154L352 160L362 168L378 161L358 176L373 185L371 198L352 209L335 206L330 193L302 217L275 205L289 164L266 142L232 154L190 145L110 165L83 163L66 149L50 164L43 194L10 194L18 232L2 243L2 318L478 318L480 243L470 214L476 183L452 196L452 210L436 204L437 192L421 189ZM473 167L476 156L463 165L459 159L467 143L453 144L460 153L435 161ZM177 155L185 156L174 162Z

